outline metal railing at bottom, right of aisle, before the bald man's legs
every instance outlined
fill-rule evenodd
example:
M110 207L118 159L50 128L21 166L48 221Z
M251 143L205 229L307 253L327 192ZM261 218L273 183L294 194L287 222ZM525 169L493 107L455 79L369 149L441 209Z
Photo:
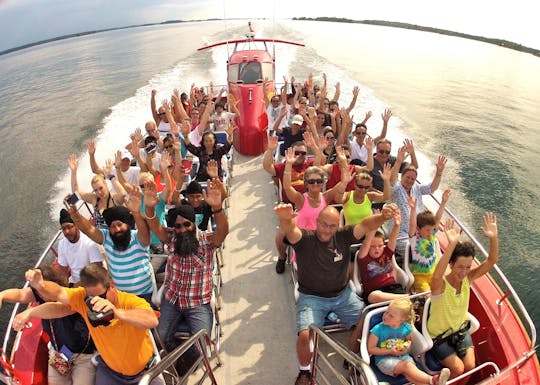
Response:
M313 324L309 326L309 340L313 351L312 374L315 384L349 385L352 383L377 385L379 383L371 367L358 355ZM326 344L324 353L320 346L321 342ZM331 353L337 355L337 357L331 356ZM341 365L343 360L349 364L349 376L351 378L346 378L341 370L336 368Z

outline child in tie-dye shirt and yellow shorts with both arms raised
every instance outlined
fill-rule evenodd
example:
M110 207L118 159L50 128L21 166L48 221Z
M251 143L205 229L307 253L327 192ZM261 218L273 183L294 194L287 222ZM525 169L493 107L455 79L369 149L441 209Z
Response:
M414 275L413 293L431 290L431 277L437 261L441 258L441 247L436 234L449 198L450 190L445 190L435 215L429 210L425 210L417 216L411 215L409 237L410 267ZM415 213L416 199L410 197L407 203L411 207L411 213Z

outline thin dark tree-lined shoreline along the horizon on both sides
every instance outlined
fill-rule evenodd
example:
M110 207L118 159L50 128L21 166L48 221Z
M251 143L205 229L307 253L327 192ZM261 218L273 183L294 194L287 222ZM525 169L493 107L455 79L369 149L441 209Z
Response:
M50 39L40 40L34 43L24 44L18 47L9 48L4 51L0 51L0 56L6 55L12 52L21 51L26 48L35 47L37 45L51 43L58 40L64 40L64 39L71 39L73 37L81 37L86 35L93 35L96 33L101 32L109 32L109 31L116 31L121 29L128 29L128 28L137 28L137 27L149 27L153 25L163 25L163 24L176 24L176 23L187 23L187 22L193 22L193 21L212 21L212 20L221 20L221 19L206 19L206 20L168 20L163 21L161 23L147 23L147 24L137 24L137 25L128 25L125 27L115 27L115 28L106 28L106 29L98 29L94 31L86 31L86 32L79 32L79 33L72 33L69 35L63 35L58 37L53 37ZM513 49L515 51L529 53L534 56L540 57L540 50L526 47L524 45L514 43L508 40L503 39L493 39L489 37L483 37L483 36L477 36L477 35L470 35L467 33L461 33L461 32L455 32L455 31L449 31L446 29L439 29L439 28L433 28L433 27L424 27L421 25L416 24L409 24L409 23L401 23L401 22L395 22L395 21L384 21L384 20L352 20L352 19L346 19L346 18L337 18L337 17L316 17L316 18L310 18L310 17L294 17L292 20L301 20L301 21L331 21L336 23L354 23L354 24L368 24L368 25L379 25L383 27L393 27L393 28L404 28L404 29L412 29L417 31L423 31L423 32L431 32L431 33L438 33L441 35L447 35L447 36L454 36L454 37L460 37L464 39L470 39L470 40L477 40L481 41L483 43L488 44L495 44L499 47L509 48Z

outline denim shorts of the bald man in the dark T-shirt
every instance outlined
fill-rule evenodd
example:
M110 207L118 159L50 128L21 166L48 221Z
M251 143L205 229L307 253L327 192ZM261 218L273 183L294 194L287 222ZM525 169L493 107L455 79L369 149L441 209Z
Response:
M300 333L309 325L322 327L326 315L333 311L341 319L341 325L349 329L360 321L360 313L364 308L362 300L347 285L337 297L319 297L299 293L296 303L296 330Z

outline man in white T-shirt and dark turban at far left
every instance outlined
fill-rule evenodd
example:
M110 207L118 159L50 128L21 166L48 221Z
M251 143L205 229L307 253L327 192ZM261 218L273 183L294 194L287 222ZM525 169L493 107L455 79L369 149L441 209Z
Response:
M60 226L64 238L58 244L58 264L69 275L70 286L77 286L79 273L90 263L103 264L99 245L79 231L66 209L60 211Z

